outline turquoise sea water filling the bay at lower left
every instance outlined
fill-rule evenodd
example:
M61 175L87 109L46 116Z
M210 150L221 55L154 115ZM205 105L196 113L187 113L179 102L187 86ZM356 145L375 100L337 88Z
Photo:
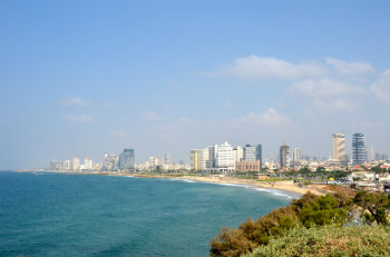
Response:
M0 172L0 256L207 256L223 226L287 205L234 186Z

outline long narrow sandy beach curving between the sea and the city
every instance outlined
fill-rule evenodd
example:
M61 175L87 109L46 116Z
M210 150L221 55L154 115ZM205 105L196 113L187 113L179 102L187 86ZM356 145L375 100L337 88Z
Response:
M220 176L188 176L188 175L150 175L150 174L120 174L120 172L109 172L109 171L68 171L68 170L13 170L16 172L58 172L65 175L106 175L106 176L118 176L118 177L137 177L137 178L168 178L177 180L192 180L197 182L209 182L218 185L243 185L253 188L263 189L275 189L287 192L293 192L298 195L304 195L306 192L312 192L314 195L324 195L325 190L313 187L299 187L293 180L281 180L281 181L259 181L256 179L241 179L234 177L220 177Z

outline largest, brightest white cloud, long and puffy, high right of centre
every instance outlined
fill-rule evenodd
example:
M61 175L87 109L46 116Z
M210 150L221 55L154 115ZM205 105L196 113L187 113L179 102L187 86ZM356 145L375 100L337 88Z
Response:
M237 58L231 65L223 65L215 75L234 76L242 79L299 79L308 76L320 76L325 68L316 62L291 63L273 57L255 55Z

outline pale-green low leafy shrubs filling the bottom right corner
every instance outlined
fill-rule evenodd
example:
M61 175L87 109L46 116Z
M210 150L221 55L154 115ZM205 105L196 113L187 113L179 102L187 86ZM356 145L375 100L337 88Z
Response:
M296 227L245 257L390 256L390 229L384 226Z

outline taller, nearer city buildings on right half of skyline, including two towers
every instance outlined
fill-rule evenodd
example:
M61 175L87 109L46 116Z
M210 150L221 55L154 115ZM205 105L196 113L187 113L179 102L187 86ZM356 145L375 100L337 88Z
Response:
M329 159L319 160L316 157L303 156L301 147L290 147L283 142L279 148L276 158L262 158L262 145L245 145L244 147L233 147L228 142L209 146L203 149L193 149L189 154L191 169L198 171L220 172L247 172L273 170L299 170L309 168L315 171L322 167L325 170L348 169L368 161L386 161L384 154L373 155L373 148L365 146L363 134L352 136L351 158L345 150L345 135L332 135L332 155Z

